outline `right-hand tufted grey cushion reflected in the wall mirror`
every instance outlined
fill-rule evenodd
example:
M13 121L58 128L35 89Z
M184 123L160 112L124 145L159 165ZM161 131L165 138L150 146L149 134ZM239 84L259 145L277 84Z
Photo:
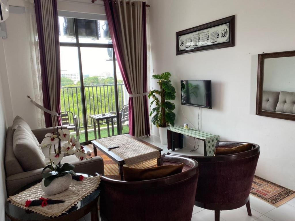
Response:
M295 114L295 93L281 91L276 112Z

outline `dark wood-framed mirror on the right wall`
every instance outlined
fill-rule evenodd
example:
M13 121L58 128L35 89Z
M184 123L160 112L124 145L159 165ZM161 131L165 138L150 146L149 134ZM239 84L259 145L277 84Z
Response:
M256 115L295 120L295 51L258 55Z

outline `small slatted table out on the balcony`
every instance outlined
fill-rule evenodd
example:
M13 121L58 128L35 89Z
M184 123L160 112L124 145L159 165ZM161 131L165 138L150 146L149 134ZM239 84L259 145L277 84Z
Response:
M93 128L94 128L94 138L97 139L96 136L96 122L97 122L97 130L98 130L98 138L101 138L100 135L100 123L99 121L105 120L106 126L108 129L108 137L110 136L110 127L109 123L112 124L112 136L114 136L114 118L117 118L117 115L106 113L106 114L94 114L89 116L93 120Z

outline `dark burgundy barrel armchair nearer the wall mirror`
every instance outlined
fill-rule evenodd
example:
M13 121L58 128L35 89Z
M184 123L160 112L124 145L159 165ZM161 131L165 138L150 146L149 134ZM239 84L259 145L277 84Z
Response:
M245 143L217 141L215 148L232 148ZM199 163L199 181L195 205L215 211L219 221L220 210L231 210L246 204L251 216L249 194L258 162L259 145L251 150L221 156L184 156ZM170 156L179 156L170 154Z

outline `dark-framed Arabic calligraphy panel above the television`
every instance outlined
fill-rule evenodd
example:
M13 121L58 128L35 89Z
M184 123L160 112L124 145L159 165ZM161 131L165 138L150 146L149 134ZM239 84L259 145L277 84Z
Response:
M176 55L235 46L235 16L176 32Z

